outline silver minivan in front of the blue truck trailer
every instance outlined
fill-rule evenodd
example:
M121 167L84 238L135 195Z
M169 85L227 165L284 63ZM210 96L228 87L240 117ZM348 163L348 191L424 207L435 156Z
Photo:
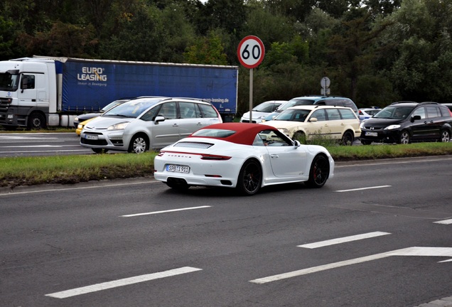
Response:
M140 154L221 122L217 109L201 99L138 98L88 122L80 134L80 145L96 154L109 150Z

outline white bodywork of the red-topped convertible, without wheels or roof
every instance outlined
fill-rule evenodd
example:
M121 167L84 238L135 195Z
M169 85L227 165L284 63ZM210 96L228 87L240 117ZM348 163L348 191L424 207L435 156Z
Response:
M213 144L209 149L178 147L177 144L189 141ZM176 146L175 146L176 145ZM237 178L245 161L256 158L262 166L262 187L279 183L295 183L307 181L313 158L318 153L328 156L330 173L334 176L334 161L322 146L247 146L232 144L219 139L190 137L161 150L162 156L154 159L154 178L166 182L168 178L183 178L188 185L208 185L235 188ZM227 161L201 160L200 154L232 156ZM166 171L167 164L189 166L189 173L173 173ZM220 176L220 177L214 177ZM230 181L230 184L224 182Z

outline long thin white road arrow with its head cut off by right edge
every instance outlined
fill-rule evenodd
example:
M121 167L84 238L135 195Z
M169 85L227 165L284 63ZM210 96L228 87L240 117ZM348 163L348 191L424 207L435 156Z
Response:
M261 279L253 279L254 284L267 284L271 281L279 281L281 279L289 279L291 277L316 273L318 271L325 271L328 269L335 269L340 266L348 266L351 264L359 264L362 262L369 262L376 259L382 259L391 256L434 256L434 257L452 257L452 247L408 247L405 249L397 249L392 252L384 252L381 254L373 254L366 257L360 257L350 260L345 260L343 262L334 262L331 264L324 264L321 266L313 266L308 269L301 269L298 271L291 271L284 274L277 274L273 276L264 277ZM452 259L451 259L452 260ZM446 260L443 262L448 262L451 260Z

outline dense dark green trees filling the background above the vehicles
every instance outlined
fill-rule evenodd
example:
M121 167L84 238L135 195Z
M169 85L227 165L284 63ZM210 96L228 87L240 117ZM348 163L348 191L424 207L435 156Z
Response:
M0 60L31 55L239 65L254 35L254 105L320 94L358 107L451 102L452 0L3 0ZM240 68L239 112L249 105Z

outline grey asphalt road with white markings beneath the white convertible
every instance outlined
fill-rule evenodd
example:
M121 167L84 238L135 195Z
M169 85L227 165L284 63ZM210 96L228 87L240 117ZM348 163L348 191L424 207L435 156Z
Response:
M1 306L417 306L452 296L452 159L252 197L152 180L0 192Z

